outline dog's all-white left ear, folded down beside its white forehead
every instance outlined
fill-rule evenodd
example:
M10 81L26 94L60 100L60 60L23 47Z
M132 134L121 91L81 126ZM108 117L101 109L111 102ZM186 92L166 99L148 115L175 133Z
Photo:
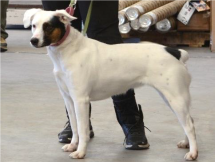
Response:
M31 25L31 21L33 20L34 15L39 11L42 11L42 10L33 8L25 12L24 18L23 18L23 24L25 28Z

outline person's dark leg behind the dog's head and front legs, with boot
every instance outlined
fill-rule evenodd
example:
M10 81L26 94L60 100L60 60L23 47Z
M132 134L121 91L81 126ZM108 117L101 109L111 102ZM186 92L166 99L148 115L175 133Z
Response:
M69 6L70 0L42 0L43 8L46 11L55 11L59 9L66 9ZM72 21L72 26L78 31L82 30L82 18L80 15L78 3L76 4L76 10L74 16L77 17L77 20ZM72 139L72 129L69 122L68 112L66 111L68 121L66 122L65 128L58 134L59 142L61 143L70 143ZM91 115L91 105L90 105L90 115ZM93 127L90 121L90 138L94 137Z

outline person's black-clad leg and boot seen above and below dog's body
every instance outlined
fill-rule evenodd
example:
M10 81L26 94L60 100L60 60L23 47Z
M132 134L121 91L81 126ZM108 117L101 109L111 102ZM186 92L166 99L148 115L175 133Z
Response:
M79 0L79 9L85 22L90 0ZM123 43L118 30L118 1L94 0L89 27L89 38L107 43ZM122 74L123 75L123 74ZM113 96L118 122L126 136L127 149L146 149L149 147L145 136L143 115L138 109L134 90L126 94Z

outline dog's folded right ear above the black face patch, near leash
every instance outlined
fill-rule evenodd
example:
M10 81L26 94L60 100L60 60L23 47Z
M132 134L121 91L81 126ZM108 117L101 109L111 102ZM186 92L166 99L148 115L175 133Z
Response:
M65 10L56 10L55 16L59 17L59 20L64 24L69 24L70 21L77 19L76 17L68 14Z

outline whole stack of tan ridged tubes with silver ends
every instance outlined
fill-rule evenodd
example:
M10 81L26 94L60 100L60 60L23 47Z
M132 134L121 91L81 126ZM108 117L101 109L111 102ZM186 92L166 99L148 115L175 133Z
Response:
M147 32L155 25L159 32L176 28L176 17L187 0L119 0L119 31Z

